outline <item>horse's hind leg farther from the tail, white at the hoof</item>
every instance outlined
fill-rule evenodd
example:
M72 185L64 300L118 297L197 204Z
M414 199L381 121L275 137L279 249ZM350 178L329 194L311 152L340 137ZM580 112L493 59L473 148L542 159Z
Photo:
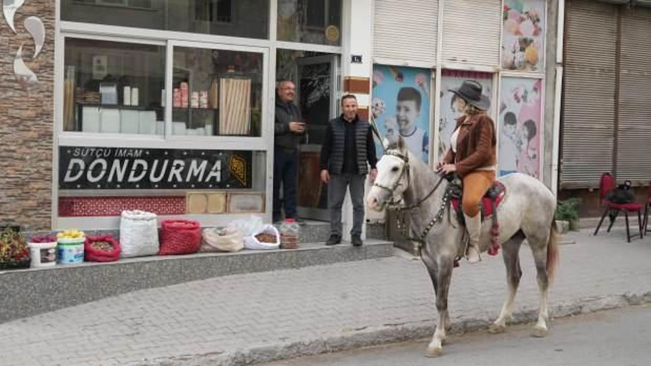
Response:
M506 331L506 321L511 320L513 313L513 303L518 291L522 269L520 268L519 251L524 240L521 232L515 234L512 238L502 244L502 257L506 267L506 298L499 317L488 327L489 333L503 333Z

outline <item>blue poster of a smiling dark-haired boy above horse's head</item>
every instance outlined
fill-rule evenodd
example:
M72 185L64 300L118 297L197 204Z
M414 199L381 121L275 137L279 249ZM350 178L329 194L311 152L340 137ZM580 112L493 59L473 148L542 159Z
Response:
M402 136L409 150L428 163L432 74L426 68L374 65L370 118L382 136ZM378 156L383 148L376 141Z

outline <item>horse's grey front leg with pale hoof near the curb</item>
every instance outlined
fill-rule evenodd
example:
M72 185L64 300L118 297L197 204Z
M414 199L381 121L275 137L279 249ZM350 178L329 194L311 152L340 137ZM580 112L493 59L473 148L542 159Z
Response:
M452 278L452 268L454 267L454 258L439 257L436 263L436 309L438 318L434 337L427 346L426 356L437 357L443 353L443 342L445 342L445 328L450 323L447 309L447 297L450 289L450 279Z

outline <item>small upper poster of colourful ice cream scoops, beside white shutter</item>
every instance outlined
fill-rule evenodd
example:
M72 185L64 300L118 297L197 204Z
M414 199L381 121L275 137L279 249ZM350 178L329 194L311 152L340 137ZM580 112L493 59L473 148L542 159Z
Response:
M505 0L502 67L544 72L545 1Z

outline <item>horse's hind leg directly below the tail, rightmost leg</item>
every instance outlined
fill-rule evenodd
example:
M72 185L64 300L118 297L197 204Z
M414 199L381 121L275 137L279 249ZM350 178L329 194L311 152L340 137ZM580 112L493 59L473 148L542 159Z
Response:
M531 253L536 264L536 280L538 282L538 321L534 327L534 337L547 335L547 292L549 290L549 277L547 277L547 242L549 235L527 236Z

